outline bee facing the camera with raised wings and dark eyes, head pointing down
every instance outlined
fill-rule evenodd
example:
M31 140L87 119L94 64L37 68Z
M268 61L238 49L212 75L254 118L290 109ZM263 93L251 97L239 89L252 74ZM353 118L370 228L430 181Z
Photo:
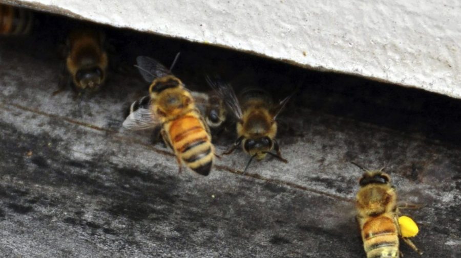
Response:
M251 156L244 173L254 158L262 160L267 154L285 163L288 162L282 158L279 144L275 139L276 119L293 95L275 105L269 94L260 88L247 88L241 92L238 99L232 86L219 78L212 80L207 77L207 82L237 118L237 139L223 154L230 154L237 147L242 146L243 151ZM272 150L276 153L271 152Z

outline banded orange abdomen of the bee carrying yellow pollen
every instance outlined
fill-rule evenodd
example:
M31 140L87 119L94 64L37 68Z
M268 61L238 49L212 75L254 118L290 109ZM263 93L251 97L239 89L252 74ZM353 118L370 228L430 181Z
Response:
M391 217L369 217L360 224L367 258L399 257L399 236Z

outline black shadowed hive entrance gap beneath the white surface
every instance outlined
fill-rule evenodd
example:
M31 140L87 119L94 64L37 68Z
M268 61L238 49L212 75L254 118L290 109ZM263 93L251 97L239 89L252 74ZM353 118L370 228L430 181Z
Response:
M44 61L60 62L57 50L59 44L65 42L70 28L85 26L101 29L106 33L110 58L116 66L112 67L112 73L125 73L124 76L133 81L131 85L114 86L109 78L104 90L130 87L143 95L148 85L132 69L135 58L138 55L151 56L169 66L175 55L181 52L174 73L193 90L210 90L204 77L218 74L231 82L237 92L244 87L261 86L277 96L277 100L287 96L304 77L300 93L288 104L284 114L296 115L296 109L302 107L461 145L461 137L458 137L461 116L457 115L461 101L457 99L358 76L312 71L206 44L114 29L46 13L35 16L37 26L29 38L19 39L19 42L5 38L11 51L26 51ZM127 105L132 101L134 99L127 99Z

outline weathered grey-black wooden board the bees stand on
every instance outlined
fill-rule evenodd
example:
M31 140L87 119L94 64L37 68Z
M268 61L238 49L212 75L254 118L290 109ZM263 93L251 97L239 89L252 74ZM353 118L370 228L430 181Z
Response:
M0 42L0 256L365 257L353 218L362 172L350 161L386 166L403 201L426 205L409 212L425 257L461 255L458 101L306 71L284 113L296 128L280 136L287 165L268 159L241 175L247 157L236 152L208 177L178 174L149 132L120 128L145 92L139 76L112 75L92 97L52 96L60 71L52 33ZM127 60L166 62L182 51L175 71L190 85L204 71L253 76L282 98L300 78L299 69L229 51L111 34L129 37L118 42ZM219 152L232 136L217 139Z

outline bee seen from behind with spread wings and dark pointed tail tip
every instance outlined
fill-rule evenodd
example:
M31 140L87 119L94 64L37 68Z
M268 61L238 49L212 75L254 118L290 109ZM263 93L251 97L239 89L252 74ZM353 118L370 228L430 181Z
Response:
M185 163L198 174L208 175L213 167L215 149L191 92L156 60L145 56L136 60L141 76L151 83L149 96L133 103L123 127L137 130L161 125L161 135L176 155L179 172Z

